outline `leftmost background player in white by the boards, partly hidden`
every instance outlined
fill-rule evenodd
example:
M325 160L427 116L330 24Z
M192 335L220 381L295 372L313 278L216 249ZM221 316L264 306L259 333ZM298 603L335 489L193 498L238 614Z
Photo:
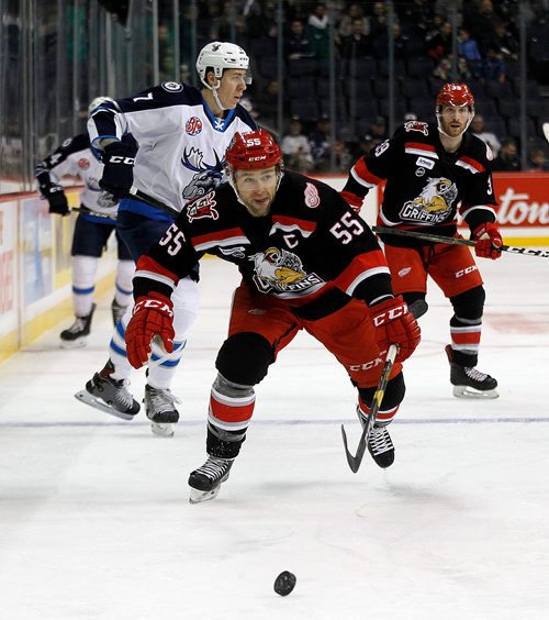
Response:
M107 97L98 97L90 103L94 110ZM110 100L112 101L112 100ZM131 144L131 140L128 139ZM99 258L111 234L117 241L117 264L114 297L111 310L114 324L122 318L132 299L134 262L125 244L116 233L117 202L102 190L99 181L103 164L99 152L90 147L87 133L66 140L35 168L35 177L43 198L49 203L49 212L68 215L70 208L60 180L65 176L79 177L83 184L80 213L72 236L72 307L75 322L60 333L63 348L86 346L96 310L93 294Z

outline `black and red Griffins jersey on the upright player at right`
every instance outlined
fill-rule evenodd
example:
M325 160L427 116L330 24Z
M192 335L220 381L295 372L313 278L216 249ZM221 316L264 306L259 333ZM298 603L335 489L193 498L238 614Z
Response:
M471 230L495 221L492 158L490 147L469 133L458 151L448 153L436 124L412 121L360 158L344 189L363 198L386 180L379 225L453 235L458 213ZM395 235L382 239L392 245L411 244Z

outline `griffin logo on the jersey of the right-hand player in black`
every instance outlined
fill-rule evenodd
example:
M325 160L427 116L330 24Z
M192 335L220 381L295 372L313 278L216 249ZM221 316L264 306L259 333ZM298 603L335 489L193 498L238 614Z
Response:
M404 204L400 215L403 221L434 225L450 214L458 196L458 188L450 179L428 178L417 198Z

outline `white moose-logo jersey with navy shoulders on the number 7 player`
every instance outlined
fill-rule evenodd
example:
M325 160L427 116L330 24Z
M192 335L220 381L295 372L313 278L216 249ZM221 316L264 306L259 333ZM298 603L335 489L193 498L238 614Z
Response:
M133 135L139 146L133 187L176 213L225 180L225 151L234 134L256 129L240 104L217 119L198 88L173 81L107 101L88 121L92 145Z

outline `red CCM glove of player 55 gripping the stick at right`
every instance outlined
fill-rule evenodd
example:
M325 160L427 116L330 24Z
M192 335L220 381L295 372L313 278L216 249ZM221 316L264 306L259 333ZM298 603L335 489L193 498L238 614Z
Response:
M376 340L380 351L397 344L396 362L404 362L419 344L422 332L415 317L408 312L406 303L399 295L370 308L370 315L376 328Z

